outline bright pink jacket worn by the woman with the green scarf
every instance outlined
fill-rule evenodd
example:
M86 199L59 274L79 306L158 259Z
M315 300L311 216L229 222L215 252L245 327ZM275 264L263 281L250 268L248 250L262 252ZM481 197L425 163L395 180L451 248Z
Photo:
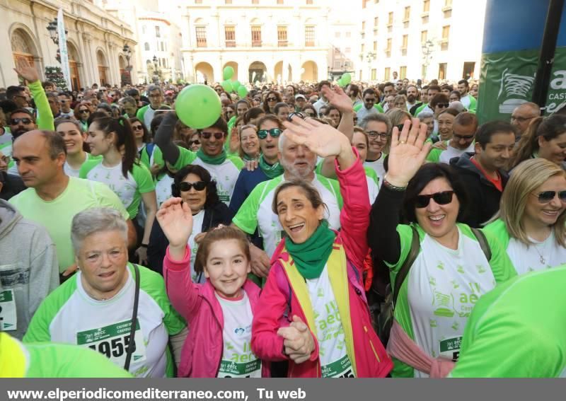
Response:
M350 281L348 289L350 319L352 320L357 377L385 377L393 368L393 362L386 354L383 344L371 325L362 283L362 267L368 251L366 231L369 226L370 210L362 163L357 161L351 168L343 171L337 169L337 176L344 199L344 208L340 213L342 228L335 243L344 244L347 256L347 272ZM270 274L260 296L262 308L253 316L252 349L255 355L268 361L288 359L283 354L283 338L277 335L279 327L288 326L293 315L299 316L306 322L301 305L295 294L292 293L287 273L279 262L280 258L288 260L289 257L287 252L282 252L283 248L284 243L282 242L275 251ZM289 304L290 310L288 310ZM311 333L313 331L311 327ZM316 339L314 333L313 337ZM294 364L289 360L289 377L321 376L318 342L315 343L316 348L308 361Z

